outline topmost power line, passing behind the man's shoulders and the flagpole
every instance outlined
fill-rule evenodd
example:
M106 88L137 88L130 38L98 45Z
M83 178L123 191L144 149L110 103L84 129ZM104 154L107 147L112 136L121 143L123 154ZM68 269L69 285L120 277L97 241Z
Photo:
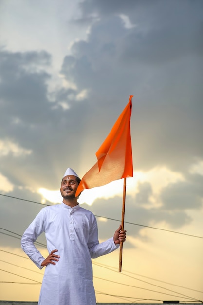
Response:
M37 204L40 204L42 206L50 206L48 204L43 204L41 202L31 201L31 200L22 199L22 198L18 198L18 197L13 197L13 196L9 196L9 195L0 194L0 196L5 196L5 197L9 197L9 198L13 198L13 199L18 199L18 200L22 200L22 201L27 201L27 202L32 202L32 203L37 203ZM110 218L110 217L106 217L106 216L99 216L99 215L94 215L94 216L95 217L101 217L101 218L109 219L109 220L113 220L113 221L119 221L119 222L121 221L120 219L114 219L114 218ZM181 235L185 235L185 236L190 236L190 237L196 237L196 238L202 238L203 239L203 236L197 236L197 235L192 235L192 234L187 234L187 233L182 233L182 232L177 232L177 231L172 231L172 230L167 230L167 229L151 227L151 226L147 226L147 225L141 225L141 224L132 223L132 222L129 222L129 221L125 221L125 224L145 227L145 228L149 228L149 229L156 229L156 230L166 231L166 232L170 232L170 233L181 234Z

